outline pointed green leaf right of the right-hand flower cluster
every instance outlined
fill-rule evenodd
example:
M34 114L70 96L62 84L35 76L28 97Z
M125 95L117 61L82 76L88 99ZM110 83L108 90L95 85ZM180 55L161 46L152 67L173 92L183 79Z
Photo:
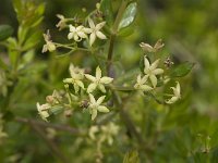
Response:
M184 62L178 65L170 74L171 77L183 77L187 75L193 68L194 63Z

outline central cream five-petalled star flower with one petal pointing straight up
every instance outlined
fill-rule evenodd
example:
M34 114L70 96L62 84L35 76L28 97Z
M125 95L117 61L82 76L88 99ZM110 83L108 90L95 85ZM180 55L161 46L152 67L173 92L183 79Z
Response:
M89 74L85 74L85 77L92 82L92 84L87 88L87 92L93 92L96 88L100 89L102 92L106 92L104 84L110 84L113 78L104 76L101 77L101 70L99 66L96 68L96 76L92 76Z

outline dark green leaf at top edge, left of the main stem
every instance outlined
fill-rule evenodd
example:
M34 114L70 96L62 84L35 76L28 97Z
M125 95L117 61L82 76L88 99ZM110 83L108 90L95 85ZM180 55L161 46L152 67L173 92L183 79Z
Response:
M101 0L100 2L100 11L102 12L106 22L109 26L113 23L113 13L112 13L112 3L111 0Z

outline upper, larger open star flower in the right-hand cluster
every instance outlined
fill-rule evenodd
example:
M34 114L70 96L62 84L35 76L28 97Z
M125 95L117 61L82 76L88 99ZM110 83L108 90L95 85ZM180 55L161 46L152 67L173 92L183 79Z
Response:
M147 60L146 57L144 57L144 73L146 75L148 75L152 84L153 84L153 87L155 88L157 86L157 77L156 75L160 75L164 73L164 70L162 68L157 68L158 66L158 63L159 63L159 60L156 60L154 63L149 63L149 61Z

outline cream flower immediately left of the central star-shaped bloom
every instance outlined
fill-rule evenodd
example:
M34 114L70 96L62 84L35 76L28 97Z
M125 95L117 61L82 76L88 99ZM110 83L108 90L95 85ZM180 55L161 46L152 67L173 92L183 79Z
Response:
M82 79L84 78L84 70L74 67L74 65L71 64L69 71L71 74L71 78L65 78L63 83L73 84L75 92L78 92L80 87L84 89L84 84L82 82Z

